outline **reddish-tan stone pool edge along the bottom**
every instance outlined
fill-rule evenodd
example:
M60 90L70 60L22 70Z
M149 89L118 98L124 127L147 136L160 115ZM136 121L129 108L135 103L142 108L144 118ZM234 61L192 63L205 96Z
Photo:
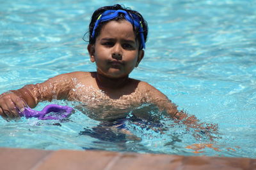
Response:
M3 170L256 169L256 159L140 153L0 148Z

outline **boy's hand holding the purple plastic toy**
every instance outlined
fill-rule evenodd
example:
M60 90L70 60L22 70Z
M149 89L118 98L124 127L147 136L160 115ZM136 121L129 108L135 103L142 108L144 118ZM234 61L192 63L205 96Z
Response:
M14 92L6 92L0 96L0 115L5 120L20 118L19 111L24 111L26 103Z

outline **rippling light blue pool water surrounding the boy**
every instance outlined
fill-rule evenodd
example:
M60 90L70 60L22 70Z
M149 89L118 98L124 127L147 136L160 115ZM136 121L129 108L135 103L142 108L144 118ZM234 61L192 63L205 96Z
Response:
M92 12L117 2L1 1L0 92L94 71L82 37ZM120 3L140 11L149 25L145 57L131 77L154 85L202 122L218 124L219 138L195 139L167 120L164 134L127 122L141 141L125 139L77 111L61 122L0 118L0 146L256 158L255 1Z

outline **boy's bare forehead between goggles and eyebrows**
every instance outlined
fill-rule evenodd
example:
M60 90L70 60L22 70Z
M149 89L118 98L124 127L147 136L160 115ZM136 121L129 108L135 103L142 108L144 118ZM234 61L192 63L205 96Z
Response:
M132 24L127 20L112 20L103 25L98 38L125 38L135 40Z

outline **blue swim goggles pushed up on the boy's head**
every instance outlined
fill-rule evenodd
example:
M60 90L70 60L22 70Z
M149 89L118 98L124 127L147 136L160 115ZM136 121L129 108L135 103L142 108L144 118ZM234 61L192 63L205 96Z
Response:
M98 17L97 21L95 22L95 25L94 25L93 31L92 31L92 37L94 38L95 29L97 29L100 22L104 22L104 21L116 18L116 17L118 17L119 13L124 13L125 19L127 21L129 21L132 25L134 25L135 27L137 27L139 29L140 39L141 39L141 48L145 49L145 39L144 39L144 35L143 35L143 25L142 25L139 17L134 15L134 14L129 15L129 13L127 13L127 11L124 11L124 10L106 10L106 11L104 11Z

